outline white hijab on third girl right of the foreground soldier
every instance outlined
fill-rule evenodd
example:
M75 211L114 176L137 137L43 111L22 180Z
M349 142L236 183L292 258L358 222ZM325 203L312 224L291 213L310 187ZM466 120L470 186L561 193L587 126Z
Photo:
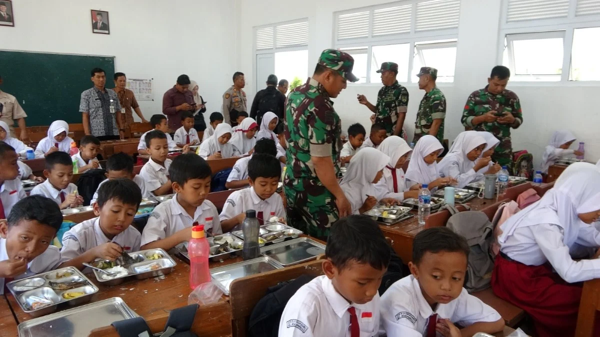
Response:
M362 151L362 150L361 150ZM426 135L416 142L415 150L410 157L409 168L406 170L406 179L415 183L430 183L440 177L437 171L437 163L428 165L423 158L438 152L442 154L444 147L436 137Z

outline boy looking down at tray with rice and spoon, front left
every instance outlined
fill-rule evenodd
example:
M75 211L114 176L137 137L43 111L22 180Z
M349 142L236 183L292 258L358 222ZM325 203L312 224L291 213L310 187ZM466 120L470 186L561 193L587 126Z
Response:
M98 190L94 215L62 236L61 267L84 269L96 258L115 261L121 252L140 250L142 234L133 226L142 201L140 188L130 179L113 179Z

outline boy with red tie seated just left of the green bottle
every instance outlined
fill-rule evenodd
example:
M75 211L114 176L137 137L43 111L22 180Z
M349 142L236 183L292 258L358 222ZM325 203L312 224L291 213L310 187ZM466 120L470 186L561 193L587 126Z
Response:
M62 151L52 152L46 156L46 181L35 186L31 195L43 195L54 200L61 209L79 207L83 197L77 194L77 185L71 182L73 162L69 154Z

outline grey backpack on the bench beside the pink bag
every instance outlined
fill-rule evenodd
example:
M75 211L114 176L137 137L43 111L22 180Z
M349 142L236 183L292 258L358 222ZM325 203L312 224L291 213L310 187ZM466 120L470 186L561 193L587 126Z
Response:
M489 288L491 272L494 269L494 261L490 255L494 236L493 226L488 216L476 210L456 212L450 216L446 227L464 236L469 244L470 253L464 288L469 293Z

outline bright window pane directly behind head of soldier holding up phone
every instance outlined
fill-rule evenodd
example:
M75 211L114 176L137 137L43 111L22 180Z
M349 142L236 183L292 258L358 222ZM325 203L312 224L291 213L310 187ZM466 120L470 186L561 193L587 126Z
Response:
M410 44L388 44L387 46L373 46L371 48L371 83L379 83L381 74L377 70L383 62L395 62L398 64L398 82L406 82L409 69ZM355 65L356 68L356 65Z

